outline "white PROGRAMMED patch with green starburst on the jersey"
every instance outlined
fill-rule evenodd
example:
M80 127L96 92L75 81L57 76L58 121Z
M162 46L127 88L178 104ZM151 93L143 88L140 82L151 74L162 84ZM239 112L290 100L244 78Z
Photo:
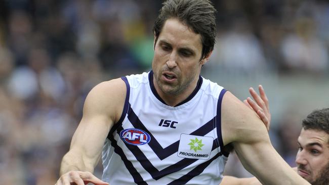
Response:
M213 137L182 133L178 147L178 157L209 159L213 148Z

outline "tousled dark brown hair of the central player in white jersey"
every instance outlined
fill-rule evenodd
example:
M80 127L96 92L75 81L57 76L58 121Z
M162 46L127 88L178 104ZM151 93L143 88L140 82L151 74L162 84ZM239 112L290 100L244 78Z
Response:
M203 59L213 51L216 37L216 10L209 0L167 0L154 22L154 47L161 29L168 19L176 18L196 34L201 35Z

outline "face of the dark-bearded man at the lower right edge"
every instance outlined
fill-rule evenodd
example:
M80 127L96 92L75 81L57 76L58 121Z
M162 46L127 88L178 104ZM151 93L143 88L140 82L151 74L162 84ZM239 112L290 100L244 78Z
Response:
M329 165L329 134L324 131L302 129L298 137L299 150L296 156L298 174L309 182L323 179ZM325 175L325 176L329 176Z

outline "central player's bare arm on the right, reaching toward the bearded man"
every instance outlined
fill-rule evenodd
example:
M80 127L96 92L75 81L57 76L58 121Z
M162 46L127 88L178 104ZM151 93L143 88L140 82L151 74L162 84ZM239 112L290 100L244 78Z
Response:
M256 113L230 92L226 92L222 102L222 136L224 145L232 144L244 168L260 182L309 184L275 151Z

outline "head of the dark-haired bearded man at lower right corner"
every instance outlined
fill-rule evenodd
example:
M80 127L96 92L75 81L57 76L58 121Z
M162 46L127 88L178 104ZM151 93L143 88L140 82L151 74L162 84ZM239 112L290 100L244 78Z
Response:
M298 174L311 184L329 184L329 109L315 110L303 120L296 156Z

